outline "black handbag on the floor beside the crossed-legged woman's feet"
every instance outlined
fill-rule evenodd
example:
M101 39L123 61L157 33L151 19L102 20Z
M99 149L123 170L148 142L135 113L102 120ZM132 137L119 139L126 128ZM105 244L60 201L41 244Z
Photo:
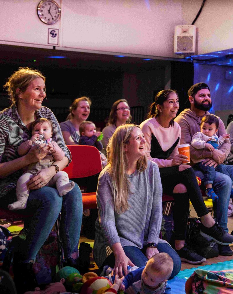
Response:
M200 219L188 218L186 230L186 243L193 248L199 255L205 258L218 256L218 245L211 238L200 235Z

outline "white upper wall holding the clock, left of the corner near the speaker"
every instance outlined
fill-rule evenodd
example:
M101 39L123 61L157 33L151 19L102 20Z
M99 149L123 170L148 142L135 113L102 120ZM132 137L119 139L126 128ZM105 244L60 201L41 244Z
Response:
M79 50L174 57L174 26L182 0L58 0L61 20L43 24L39 0L1 0L0 43L47 45L47 29L60 30L60 46Z

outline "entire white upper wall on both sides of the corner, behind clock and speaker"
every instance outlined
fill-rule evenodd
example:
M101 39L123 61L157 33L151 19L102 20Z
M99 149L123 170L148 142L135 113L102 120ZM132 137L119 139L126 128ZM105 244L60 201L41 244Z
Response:
M191 24L202 0L57 0L62 12L55 25L39 20L38 3L1 0L1 44L51 47L48 28L55 28L60 46L70 50L176 57L174 27ZM198 54L233 48L232 13L232 0L206 1L195 23Z

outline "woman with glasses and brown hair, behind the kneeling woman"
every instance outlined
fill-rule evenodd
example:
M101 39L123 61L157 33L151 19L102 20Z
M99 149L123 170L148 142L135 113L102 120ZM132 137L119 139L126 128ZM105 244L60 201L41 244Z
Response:
M115 101L109 114L107 126L103 129L103 153L106 154L108 140L115 132L115 129L125 123L130 123L131 119L132 116L130 115L130 107L127 100L119 99Z

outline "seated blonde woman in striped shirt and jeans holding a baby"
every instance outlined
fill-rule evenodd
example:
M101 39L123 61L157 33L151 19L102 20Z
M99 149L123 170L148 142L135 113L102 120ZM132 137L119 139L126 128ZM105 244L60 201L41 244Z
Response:
M46 184L71 161L70 152L65 146L61 129L54 114L42 106L45 98L45 77L37 70L19 68L8 78L4 85L12 105L0 112L0 206L7 208L16 201L16 183L22 169L30 163L44 158L49 147L42 144L33 146L20 157L18 146L30 139L30 127L38 118L47 118L53 126L52 140L56 141L65 156L55 161L49 168L42 169L28 182L30 194L27 208L22 213L33 215L25 222L27 231L25 240L20 246L20 253L13 260L13 272L18 293L34 290L35 278L31 270L38 250L48 237L58 215L62 210L61 238L65 258L69 265L76 265L77 245L82 218L82 195L79 187L59 196L56 188ZM20 210L18 211L20 212Z

